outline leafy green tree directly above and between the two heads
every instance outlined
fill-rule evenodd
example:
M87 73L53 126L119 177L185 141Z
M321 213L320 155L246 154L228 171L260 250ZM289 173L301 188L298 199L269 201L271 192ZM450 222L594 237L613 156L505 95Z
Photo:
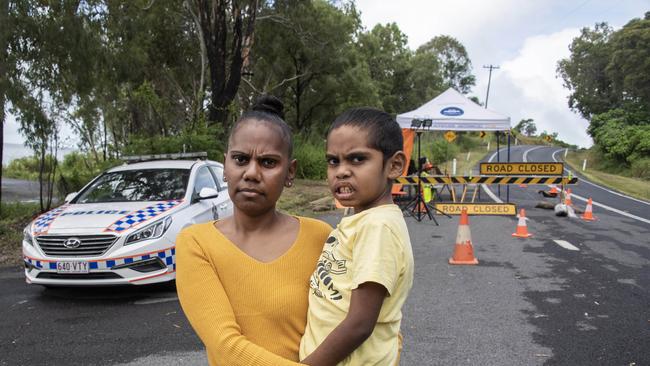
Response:
M272 93L283 99L286 121L301 133L320 132L351 106L380 106L370 68L354 43L360 26L353 4L274 1L261 11L242 104Z

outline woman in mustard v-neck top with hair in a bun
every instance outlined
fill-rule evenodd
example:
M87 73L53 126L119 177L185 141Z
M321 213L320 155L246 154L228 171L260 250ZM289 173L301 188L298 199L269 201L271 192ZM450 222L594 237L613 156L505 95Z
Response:
M177 288L210 365L296 365L309 277L331 227L276 210L296 161L282 103L261 98L228 139L233 216L183 230Z

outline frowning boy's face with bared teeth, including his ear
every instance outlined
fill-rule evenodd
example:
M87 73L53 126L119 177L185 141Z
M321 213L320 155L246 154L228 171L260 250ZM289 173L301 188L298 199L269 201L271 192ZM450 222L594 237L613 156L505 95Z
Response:
M368 146L368 131L341 126L327 137L327 181L342 205L355 212L392 203L389 180L401 175L400 151L384 163L384 154Z

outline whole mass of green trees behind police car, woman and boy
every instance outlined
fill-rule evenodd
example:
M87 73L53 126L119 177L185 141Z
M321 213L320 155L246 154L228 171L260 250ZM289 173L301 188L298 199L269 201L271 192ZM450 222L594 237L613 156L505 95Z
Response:
M123 154L220 158L227 129L263 93L314 144L347 108L396 114L474 85L456 39L413 51L394 23L364 29L353 1L0 0L0 24L0 120L16 116L43 186L67 179L63 191L78 188L80 167ZM80 154L60 164L47 156L66 144L63 129ZM322 173L312 165L304 175Z

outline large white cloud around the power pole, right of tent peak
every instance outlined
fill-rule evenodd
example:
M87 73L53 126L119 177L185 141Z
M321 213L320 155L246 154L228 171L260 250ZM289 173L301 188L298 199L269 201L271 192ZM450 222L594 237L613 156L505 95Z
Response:
M578 34L570 28L527 38L518 54L493 72L490 109L510 115L513 125L533 118L539 132L558 132L563 141L590 146L589 123L568 108L569 91L556 76L557 62L569 56L568 45ZM486 90L486 83L475 90Z

